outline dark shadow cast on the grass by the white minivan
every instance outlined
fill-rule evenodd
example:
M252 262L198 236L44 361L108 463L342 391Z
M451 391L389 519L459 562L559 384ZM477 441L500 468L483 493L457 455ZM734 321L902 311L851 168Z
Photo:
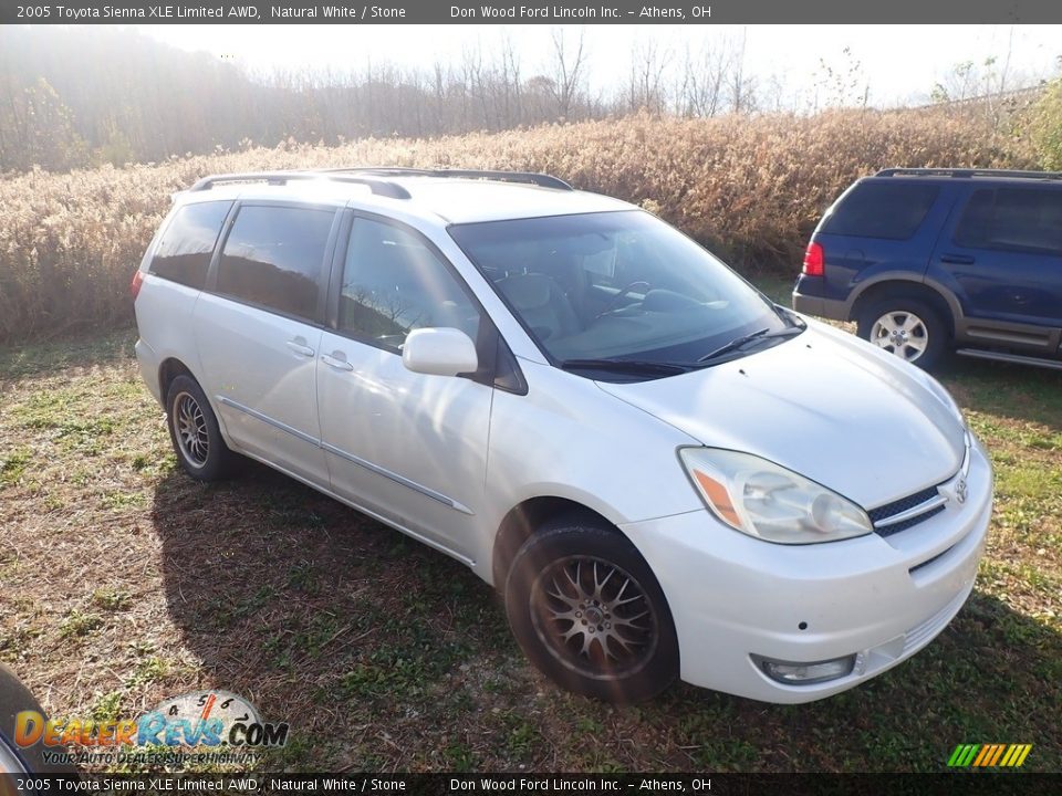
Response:
M219 485L173 471L152 520L198 661L180 687L290 722L277 766L926 771L959 743L1032 743L1027 768L1062 768L1062 636L980 591L914 659L822 702L679 684L617 708L538 674L466 567L264 467Z

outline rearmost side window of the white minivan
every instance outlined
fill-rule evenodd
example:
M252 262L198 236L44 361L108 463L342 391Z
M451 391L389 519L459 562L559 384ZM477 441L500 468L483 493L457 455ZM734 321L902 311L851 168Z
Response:
M231 207L232 202L199 202L178 210L155 249L150 272L202 290L218 233Z

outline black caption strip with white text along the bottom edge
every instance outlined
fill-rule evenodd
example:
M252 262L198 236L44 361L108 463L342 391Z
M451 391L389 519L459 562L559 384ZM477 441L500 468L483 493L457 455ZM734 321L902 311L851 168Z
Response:
M723 796L925 796L1060 793L1062 774L90 774L0 775L0 794L722 794Z

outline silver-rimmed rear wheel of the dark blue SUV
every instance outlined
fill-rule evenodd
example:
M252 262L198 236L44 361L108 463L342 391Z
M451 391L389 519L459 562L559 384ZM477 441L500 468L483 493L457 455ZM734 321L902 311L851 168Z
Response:
M929 369L948 347L940 314L917 298L886 298L860 314L858 335L900 359Z

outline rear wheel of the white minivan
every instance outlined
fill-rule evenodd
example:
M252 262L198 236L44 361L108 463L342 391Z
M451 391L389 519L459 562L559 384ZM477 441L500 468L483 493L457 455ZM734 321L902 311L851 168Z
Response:
M199 481L217 481L231 473L236 454L225 444L210 402L190 376L178 376L169 385L166 418L185 472Z

